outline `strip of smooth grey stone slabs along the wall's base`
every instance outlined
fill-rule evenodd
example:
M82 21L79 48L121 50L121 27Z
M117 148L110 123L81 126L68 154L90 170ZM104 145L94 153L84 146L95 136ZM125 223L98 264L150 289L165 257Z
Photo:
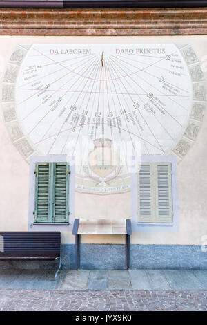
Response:
M207 270L0 270L0 289L207 290Z

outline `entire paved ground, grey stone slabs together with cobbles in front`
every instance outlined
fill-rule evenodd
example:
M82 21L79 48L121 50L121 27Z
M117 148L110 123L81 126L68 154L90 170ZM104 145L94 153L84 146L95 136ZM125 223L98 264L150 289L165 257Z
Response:
M207 310L207 270L0 270L0 310Z

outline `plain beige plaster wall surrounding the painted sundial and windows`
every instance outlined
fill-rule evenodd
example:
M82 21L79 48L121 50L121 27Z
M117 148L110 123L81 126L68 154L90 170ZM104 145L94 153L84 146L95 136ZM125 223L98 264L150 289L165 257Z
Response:
M199 59L207 55L207 36L149 37L31 37L0 36L0 78L16 44L34 43L161 43L192 44ZM207 64L206 64L207 70ZM205 73L207 77L207 73ZM1 87L1 85L0 85ZM207 114L206 114L207 115ZM179 232L134 233L132 243L200 245L207 234L207 116L193 148L178 165ZM0 111L0 231L28 230L29 165L12 145ZM75 194L75 216L125 218L130 216L130 193L98 196ZM83 243L124 243L121 236L85 236ZM63 243L74 243L63 232Z

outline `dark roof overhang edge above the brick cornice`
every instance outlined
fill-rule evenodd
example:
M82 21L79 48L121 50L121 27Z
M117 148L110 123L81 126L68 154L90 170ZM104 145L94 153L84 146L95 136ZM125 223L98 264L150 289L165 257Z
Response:
M5 0L0 8L190 8L207 7L206 0Z

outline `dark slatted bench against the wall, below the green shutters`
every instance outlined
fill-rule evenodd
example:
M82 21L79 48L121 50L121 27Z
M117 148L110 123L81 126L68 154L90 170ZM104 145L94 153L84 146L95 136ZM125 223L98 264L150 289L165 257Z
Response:
M0 232L1 260L59 259L61 268L61 232Z

